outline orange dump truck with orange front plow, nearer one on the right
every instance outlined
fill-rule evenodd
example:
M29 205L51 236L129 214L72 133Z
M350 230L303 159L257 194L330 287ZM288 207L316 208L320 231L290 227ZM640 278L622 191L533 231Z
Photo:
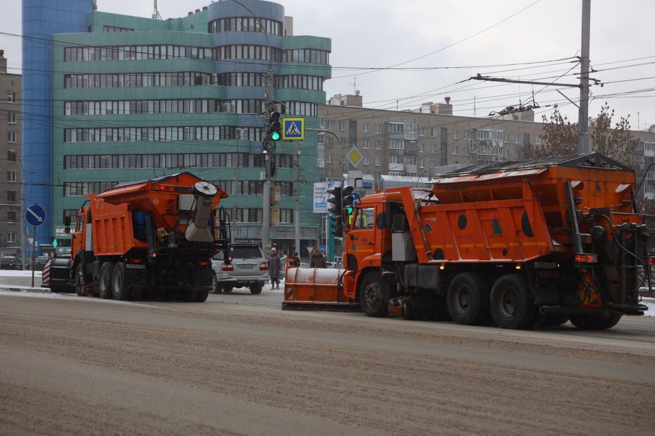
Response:
M345 270L289 268L284 308L508 329L643 315L650 232L634 170L598 153L471 166L387 189L348 217Z

